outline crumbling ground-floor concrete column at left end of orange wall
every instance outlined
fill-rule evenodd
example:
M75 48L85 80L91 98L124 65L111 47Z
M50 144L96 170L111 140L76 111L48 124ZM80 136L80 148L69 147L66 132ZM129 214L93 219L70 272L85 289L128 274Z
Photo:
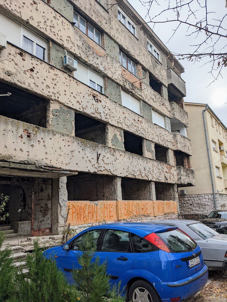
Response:
M68 193L66 188L67 177L53 179L52 197L52 232L61 234L66 223Z

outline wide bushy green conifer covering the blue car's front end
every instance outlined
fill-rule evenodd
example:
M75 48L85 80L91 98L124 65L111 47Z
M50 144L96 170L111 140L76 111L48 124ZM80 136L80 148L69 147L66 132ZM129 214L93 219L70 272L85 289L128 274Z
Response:
M70 302L76 301L76 286L70 286L55 261L46 260L38 240L34 242L34 253L28 254L28 274L19 274L17 301L20 302Z

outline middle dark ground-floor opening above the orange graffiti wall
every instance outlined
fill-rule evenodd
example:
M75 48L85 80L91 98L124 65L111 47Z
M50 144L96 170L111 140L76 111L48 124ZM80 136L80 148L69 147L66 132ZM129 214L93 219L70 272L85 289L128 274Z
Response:
M151 188L146 180L122 178L121 189L123 200L150 200Z

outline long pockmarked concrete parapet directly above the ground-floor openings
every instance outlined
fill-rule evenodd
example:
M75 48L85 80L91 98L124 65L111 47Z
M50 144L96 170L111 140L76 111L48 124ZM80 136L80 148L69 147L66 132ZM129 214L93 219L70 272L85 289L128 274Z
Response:
M17 169L30 169L32 165L32 169L49 172L81 171L177 182L175 166L23 121L0 116L0 133L0 160L17 164Z

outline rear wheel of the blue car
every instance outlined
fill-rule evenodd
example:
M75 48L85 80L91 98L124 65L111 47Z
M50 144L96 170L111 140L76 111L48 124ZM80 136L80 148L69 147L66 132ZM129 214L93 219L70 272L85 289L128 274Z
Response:
M160 302L160 297L153 286L144 280L134 282L129 289L129 301L140 301L138 298L143 298L146 302Z

